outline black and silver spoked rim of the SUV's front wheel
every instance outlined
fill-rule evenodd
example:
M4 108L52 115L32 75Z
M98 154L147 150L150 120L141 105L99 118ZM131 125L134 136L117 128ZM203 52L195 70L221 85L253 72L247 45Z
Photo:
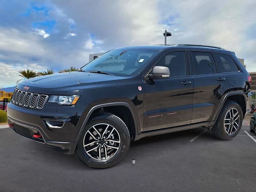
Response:
M84 150L96 160L107 160L120 148L120 135L110 124L96 124L84 135Z

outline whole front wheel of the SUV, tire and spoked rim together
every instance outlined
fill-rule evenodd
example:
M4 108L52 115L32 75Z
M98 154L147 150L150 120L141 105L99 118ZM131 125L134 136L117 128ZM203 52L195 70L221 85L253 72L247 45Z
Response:
M92 142L94 143L88 145ZM96 146L99 148L92 150ZM124 158L129 147L130 134L126 124L118 116L104 112L86 124L78 141L75 155L80 162L91 168L109 168Z

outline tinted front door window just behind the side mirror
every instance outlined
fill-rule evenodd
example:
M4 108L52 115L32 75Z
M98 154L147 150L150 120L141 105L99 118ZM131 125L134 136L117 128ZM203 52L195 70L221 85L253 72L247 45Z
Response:
M163 56L155 66L166 66L170 70L170 77L186 76L185 52L172 52Z

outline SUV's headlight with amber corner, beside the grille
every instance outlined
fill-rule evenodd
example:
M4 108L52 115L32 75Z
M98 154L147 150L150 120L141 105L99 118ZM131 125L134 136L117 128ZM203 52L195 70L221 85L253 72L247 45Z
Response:
M59 105L74 105L77 103L80 96L72 95L72 96L59 96L52 95L50 96L49 103L58 103Z

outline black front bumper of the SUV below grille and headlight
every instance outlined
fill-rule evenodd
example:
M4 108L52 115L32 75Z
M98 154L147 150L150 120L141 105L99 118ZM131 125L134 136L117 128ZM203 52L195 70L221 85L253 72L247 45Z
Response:
M80 114L74 106L61 106L61 112L58 112L60 106L51 106L53 107L44 106L44 110L31 110L9 103L7 108L8 122L14 124L12 129L16 133L27 139L61 149L66 154L73 154L77 144L76 137L80 130L76 126ZM79 108L80 106L76 107ZM50 128L46 124L46 120L61 120L65 123L62 128ZM40 133L42 138L33 138L29 132L31 134Z

